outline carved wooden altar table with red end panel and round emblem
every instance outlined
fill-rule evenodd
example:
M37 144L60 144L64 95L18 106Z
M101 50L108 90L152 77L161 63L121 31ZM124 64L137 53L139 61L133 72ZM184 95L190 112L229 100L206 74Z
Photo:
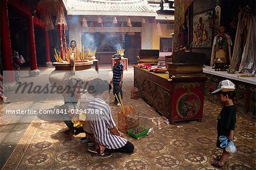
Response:
M206 77L173 77L134 66L134 86L140 96L171 124L203 118Z

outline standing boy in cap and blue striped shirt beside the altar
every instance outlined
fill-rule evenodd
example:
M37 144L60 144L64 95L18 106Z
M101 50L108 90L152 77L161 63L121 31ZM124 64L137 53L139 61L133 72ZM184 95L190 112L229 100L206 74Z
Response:
M113 83L113 93L115 96L115 102L120 101L118 94L121 94L121 98L123 98L122 93L122 80L123 80L123 65L120 63L121 55L116 53L114 55L115 64L113 67L113 78L110 81L110 84ZM117 97L116 97L117 96ZM119 103L117 104L119 106Z

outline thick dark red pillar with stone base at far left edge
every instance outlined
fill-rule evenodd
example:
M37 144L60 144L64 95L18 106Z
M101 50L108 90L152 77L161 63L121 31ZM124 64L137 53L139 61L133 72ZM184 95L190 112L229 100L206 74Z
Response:
M3 70L14 71L13 59L11 58L11 39L10 28L8 20L7 1L1 1L1 48L3 53ZM8 72L8 76L5 76L6 82L14 82L14 73Z

